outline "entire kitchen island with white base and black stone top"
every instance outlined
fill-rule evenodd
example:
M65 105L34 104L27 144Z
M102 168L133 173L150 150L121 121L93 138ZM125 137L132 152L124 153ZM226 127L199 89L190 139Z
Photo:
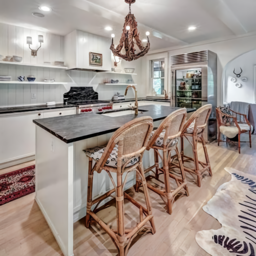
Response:
M47 220L63 254L73 254L73 222L86 216L88 163L86 148L108 143L123 124L151 116L154 126L178 108L162 105L100 114L77 114L33 120L36 124L36 202ZM187 109L188 113L195 109ZM153 165L154 153L145 152L144 168ZM130 173L125 189L135 184ZM94 174L93 199L113 188L108 174ZM102 204L105 202L103 201Z

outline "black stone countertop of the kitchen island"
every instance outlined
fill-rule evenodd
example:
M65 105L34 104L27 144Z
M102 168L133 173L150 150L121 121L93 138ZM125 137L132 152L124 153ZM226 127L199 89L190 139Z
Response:
M102 114L77 114L69 116L51 117L33 120L42 129L53 134L60 140L71 143L96 137L103 134L115 132L123 124L142 116L151 116L154 121L162 120L170 113L180 108L173 108L162 105L146 105L139 107L139 110L146 111L118 117L104 116ZM125 109L126 110L126 109ZM122 110L122 111L125 111ZM130 110L130 109L127 109ZM118 110L119 112L120 110ZM187 113L194 112L195 109L187 109ZM113 112L113 111L106 111ZM106 113L105 112L105 113ZM115 111L116 112L116 111Z

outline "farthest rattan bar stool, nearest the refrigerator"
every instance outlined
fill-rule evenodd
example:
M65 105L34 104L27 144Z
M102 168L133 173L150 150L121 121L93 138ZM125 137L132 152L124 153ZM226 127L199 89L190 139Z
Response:
M212 109L211 104L201 106L200 109L198 109L196 112L194 112L190 116L190 118L184 125L183 131L181 134L181 157L183 161L184 170L191 174L197 175L197 185L199 187L201 187L201 179L204 172L208 172L209 175L212 176L209 156L208 156L206 144L203 138L203 132L207 125L207 122L211 113L211 109ZM190 142L188 137L192 137L193 141ZM191 144L193 148L194 159L184 155L184 138L188 140L188 142ZM197 154L198 140L201 140L203 144L206 163L198 160L198 154ZM194 162L194 168L189 168L185 166L184 165L185 162ZM200 168L199 165L201 165L202 167Z

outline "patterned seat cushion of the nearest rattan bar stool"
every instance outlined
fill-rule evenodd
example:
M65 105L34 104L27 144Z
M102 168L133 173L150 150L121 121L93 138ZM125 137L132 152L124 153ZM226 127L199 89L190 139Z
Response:
M91 157L93 160L98 162L102 157L105 149L106 149L106 146L104 145L104 146L95 146L92 148L87 148L86 150L83 150L83 151L86 152L86 155L88 157ZM110 157L106 161L105 165L117 168L117 154L118 154L118 145L116 144L115 147L113 148L112 153L110 154ZM129 158L129 159L131 159L131 161L125 167L130 167L136 164L140 160L140 156L135 156L134 158ZM122 165L124 165L126 161L128 161L129 159L124 158L122 160Z

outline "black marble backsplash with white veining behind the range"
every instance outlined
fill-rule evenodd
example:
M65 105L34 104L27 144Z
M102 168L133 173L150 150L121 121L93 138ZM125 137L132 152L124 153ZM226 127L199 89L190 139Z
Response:
M98 99L99 95L93 87L71 87L70 91L64 94L64 103L70 101L82 101Z

